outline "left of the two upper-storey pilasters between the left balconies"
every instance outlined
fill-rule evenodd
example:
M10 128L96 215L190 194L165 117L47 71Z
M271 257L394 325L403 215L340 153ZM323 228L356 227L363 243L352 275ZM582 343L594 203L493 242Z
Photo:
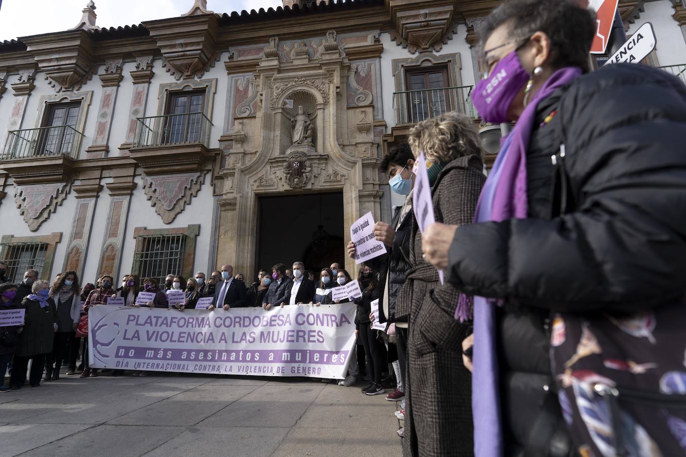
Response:
M104 72L97 75L102 82L102 99L100 108L97 110L97 124L93 144L86 149L87 159L100 159L107 156L110 151L110 127L112 127L112 115L117 103L117 92L121 76L121 59L105 62Z

